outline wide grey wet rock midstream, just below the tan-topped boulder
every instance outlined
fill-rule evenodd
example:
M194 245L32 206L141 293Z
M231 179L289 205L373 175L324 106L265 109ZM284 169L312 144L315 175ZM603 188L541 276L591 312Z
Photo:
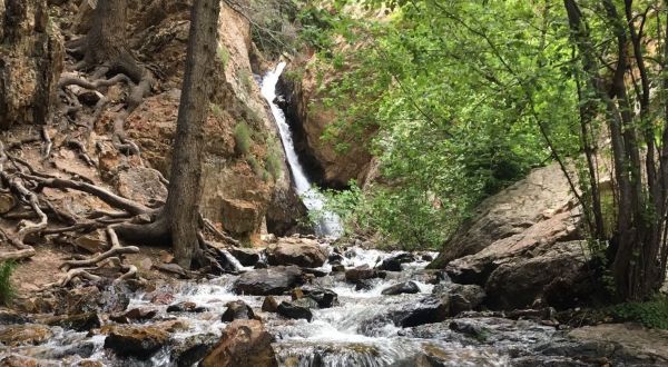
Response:
M282 295L302 281L302 270L298 267L273 267L242 274L234 282L234 290L253 296Z

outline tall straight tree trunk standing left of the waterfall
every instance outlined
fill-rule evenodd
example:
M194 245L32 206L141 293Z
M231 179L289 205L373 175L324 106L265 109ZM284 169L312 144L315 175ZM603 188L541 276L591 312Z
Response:
M195 0L186 57L183 95L178 108L169 196L163 212L178 264L190 267L198 248L197 228L204 159L204 125L216 65L218 0Z

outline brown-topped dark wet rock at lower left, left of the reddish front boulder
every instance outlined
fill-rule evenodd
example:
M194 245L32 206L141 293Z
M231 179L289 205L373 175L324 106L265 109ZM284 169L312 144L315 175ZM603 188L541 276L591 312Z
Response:
M146 360L168 340L169 333L157 326L118 325L105 338L105 348L121 357Z

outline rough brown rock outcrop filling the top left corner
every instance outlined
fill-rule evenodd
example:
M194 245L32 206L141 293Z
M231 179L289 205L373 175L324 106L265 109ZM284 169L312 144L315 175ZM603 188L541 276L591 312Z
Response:
M65 56L47 0L3 1L0 44L0 129L47 123Z

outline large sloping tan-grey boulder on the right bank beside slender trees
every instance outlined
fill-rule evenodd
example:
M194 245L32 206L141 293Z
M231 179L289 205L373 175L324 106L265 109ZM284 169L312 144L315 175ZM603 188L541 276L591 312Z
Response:
M568 182L551 165L485 200L430 267L483 287L492 308L570 307L593 287L580 222Z

